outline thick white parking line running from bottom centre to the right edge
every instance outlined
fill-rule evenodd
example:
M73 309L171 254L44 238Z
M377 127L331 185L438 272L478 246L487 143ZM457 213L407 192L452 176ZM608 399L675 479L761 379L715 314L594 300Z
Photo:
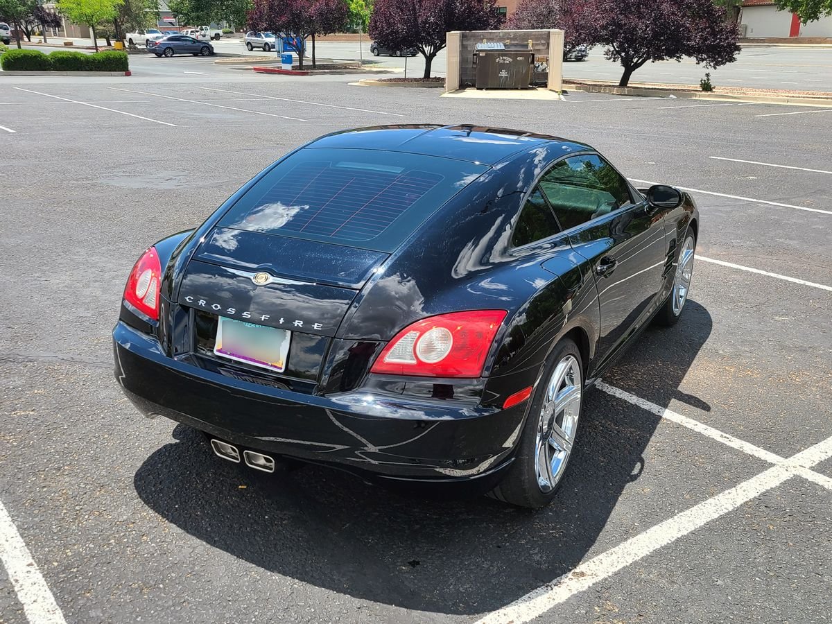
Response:
M612 388L612 386L608 387ZM611 577L614 573L640 561L659 548L676 542L681 537L685 537L696 529L705 526L708 522L740 508L741 505L778 487L788 479L797 475L802 476L804 470L820 477L820 481L823 482L821 484L829 487L825 484L827 478L814 473L810 468L830 457L832 457L832 438L826 438L791 458L782 460L782 463L766 469L757 476L747 479L734 488L707 498L692 508L656 524L645 532L636 535L636 537L631 537L618 546L602 552L597 557L592 557L589 561L573 568L572 571L557 577L554 581L542 587L538 587L506 607L488 613L485 617L479 619L476 624L522 624L522 622L531 622L553 607L566 602L575 594ZM815 481L814 478L812 480Z

